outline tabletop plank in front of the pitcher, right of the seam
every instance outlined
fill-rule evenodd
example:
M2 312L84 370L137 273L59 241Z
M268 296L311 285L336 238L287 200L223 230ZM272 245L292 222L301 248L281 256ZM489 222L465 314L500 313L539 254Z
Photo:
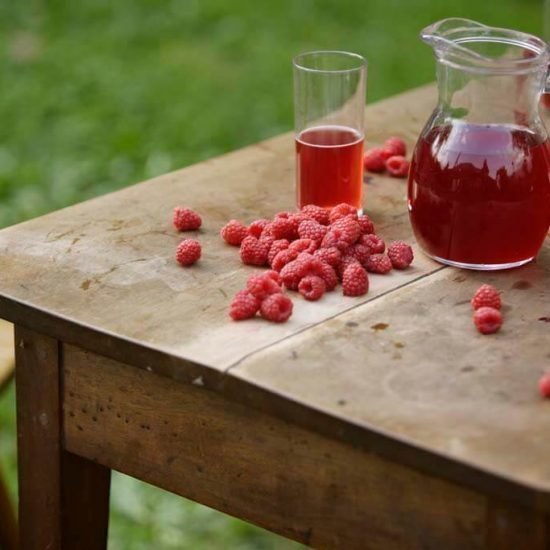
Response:
M550 356L549 325L539 320L549 280L548 244L521 269L446 269L251 355L230 374L363 428L356 440L366 445L369 432L391 434L432 453L423 468L548 511L550 403L537 381ZM503 291L504 326L491 336L472 323L469 300L482 282ZM471 472L435 466L437 457Z

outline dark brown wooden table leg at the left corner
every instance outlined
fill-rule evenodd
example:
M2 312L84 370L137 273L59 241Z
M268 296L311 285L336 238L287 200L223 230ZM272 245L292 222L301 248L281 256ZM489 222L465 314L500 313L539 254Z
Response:
M106 548L110 470L63 449L59 342L15 329L21 550Z

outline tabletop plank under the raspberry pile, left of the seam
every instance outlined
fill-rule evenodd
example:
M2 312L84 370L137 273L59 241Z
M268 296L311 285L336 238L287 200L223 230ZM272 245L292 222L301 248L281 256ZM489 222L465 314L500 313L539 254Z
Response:
M370 106L370 131L393 121L411 144L433 102L433 89L424 88ZM418 118L403 125L410 110ZM293 147L286 134L1 231L0 261L10 269L0 281L0 313L24 324L30 305L40 310L33 315L35 328L40 323L40 330L59 339L107 355L117 352L117 339L135 342L168 356L155 366L165 375L172 374L177 358L180 370L191 365L203 371L195 377L207 376L205 367L223 371L249 353L438 269L419 255L413 269L373 281L364 298L333 293L322 303L297 300L284 325L228 322L230 299L254 268L240 263L219 229L232 217L251 221L293 208ZM196 208L204 220L193 234L203 244L203 258L191 269L174 261L183 235L171 227L171 212L180 203ZM365 206L384 237L412 238L403 180L373 178ZM78 334L75 326L81 327Z

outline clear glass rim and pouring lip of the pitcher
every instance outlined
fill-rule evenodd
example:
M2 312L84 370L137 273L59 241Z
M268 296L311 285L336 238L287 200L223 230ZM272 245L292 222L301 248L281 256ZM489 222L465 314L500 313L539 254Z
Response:
M455 68L482 73L523 73L539 65L546 66L550 59L548 44L533 34L491 27L459 17L442 19L420 32L424 42L434 48L437 58ZM533 53L530 57L495 58L483 55L465 46L472 42L493 42L521 47Z

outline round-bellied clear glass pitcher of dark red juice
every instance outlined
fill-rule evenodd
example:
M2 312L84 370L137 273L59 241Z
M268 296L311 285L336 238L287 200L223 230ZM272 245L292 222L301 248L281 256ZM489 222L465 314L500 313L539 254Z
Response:
M550 145L538 111L548 46L458 18L430 25L421 37L435 50L439 102L409 174L418 243L456 267L527 263L550 225Z

